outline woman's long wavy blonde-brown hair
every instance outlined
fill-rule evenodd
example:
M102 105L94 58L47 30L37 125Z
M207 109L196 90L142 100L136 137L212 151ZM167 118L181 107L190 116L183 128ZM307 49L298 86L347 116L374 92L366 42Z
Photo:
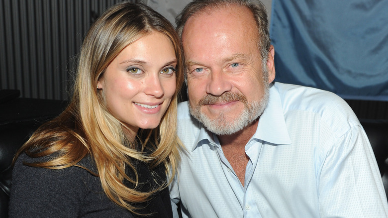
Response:
M174 46L177 90L171 105L155 129L131 132L106 107L97 81L109 63L129 44L152 32L167 36ZM161 51L162 52L162 51ZM179 162L181 142L177 137L178 94L183 84L183 60L179 37L172 24L144 4L123 2L108 8L89 29L78 58L74 94L68 107L56 118L43 124L18 150L14 161L23 152L30 157L47 157L43 162L24 163L32 167L63 169L82 167L79 161L90 155L97 167L103 191L117 205L136 214L132 203L144 202L168 186ZM149 146L144 152L145 146ZM149 192L136 190L138 174L134 160L146 162L153 170L160 164L166 167L170 180ZM125 168L134 178L125 174ZM126 187L123 181L133 184Z

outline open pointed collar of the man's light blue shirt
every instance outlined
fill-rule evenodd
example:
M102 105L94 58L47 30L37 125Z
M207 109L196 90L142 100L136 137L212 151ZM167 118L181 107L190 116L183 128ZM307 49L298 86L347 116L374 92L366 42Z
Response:
M199 123L199 134L195 138L192 151L202 140L207 140L209 145L218 146L214 141L215 135ZM291 138L287 131L286 121L283 115L283 107L278 89L270 84L270 97L252 138L257 138L272 144L291 144Z

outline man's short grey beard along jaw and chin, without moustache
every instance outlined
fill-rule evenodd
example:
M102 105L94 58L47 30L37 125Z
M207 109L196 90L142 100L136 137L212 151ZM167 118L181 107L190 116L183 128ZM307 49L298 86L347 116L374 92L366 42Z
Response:
M263 75L267 73L263 71ZM268 75L268 73L267 73ZM248 124L255 121L267 107L269 99L270 85L268 83L268 76L263 78L264 95L259 101L247 103L247 101L241 101L244 104L243 111L234 120L228 119L223 112L220 112L219 116L215 119L210 119L205 113L201 111L201 106L191 107L189 103L190 113L203 125L216 135L231 135L243 129ZM220 98L220 97L218 97ZM245 97L244 97L245 98ZM245 98L246 99L246 98ZM190 99L189 99L190 101Z

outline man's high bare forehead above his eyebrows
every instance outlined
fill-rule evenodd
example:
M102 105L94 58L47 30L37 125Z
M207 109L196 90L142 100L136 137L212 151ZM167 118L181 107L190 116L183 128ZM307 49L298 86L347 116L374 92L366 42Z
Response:
M239 51L234 47L241 46L241 43L252 43L252 47L253 44L257 45L258 32L253 14L250 14L251 11L246 7L235 7L200 12L190 17L182 33L185 56L195 54L208 58L211 58L211 55L219 57L215 49L223 48L225 53L235 54ZM208 53L203 54L203 50Z

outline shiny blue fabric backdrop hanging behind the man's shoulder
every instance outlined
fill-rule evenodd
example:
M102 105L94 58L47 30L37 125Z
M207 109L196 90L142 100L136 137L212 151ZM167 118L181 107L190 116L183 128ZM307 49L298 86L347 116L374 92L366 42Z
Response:
M273 0L276 81L388 101L388 0Z

